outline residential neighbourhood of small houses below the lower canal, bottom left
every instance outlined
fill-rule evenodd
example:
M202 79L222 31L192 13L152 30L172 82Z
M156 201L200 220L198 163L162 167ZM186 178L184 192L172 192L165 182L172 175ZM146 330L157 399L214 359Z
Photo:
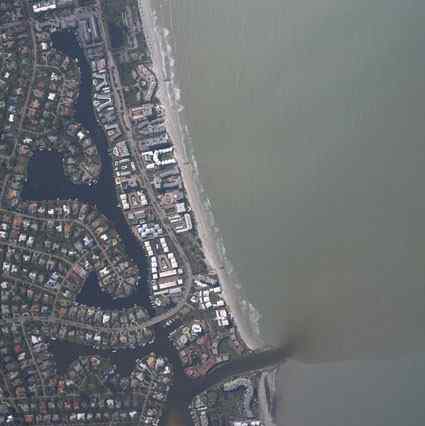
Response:
M167 359L150 353L123 377L110 359L81 356L60 373L43 327L0 328L0 424L158 424L174 376Z

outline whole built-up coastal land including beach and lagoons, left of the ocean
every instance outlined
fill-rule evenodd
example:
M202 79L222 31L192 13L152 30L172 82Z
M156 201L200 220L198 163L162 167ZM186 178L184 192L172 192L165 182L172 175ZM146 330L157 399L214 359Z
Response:
M265 424L160 47L149 0L0 0L0 424Z

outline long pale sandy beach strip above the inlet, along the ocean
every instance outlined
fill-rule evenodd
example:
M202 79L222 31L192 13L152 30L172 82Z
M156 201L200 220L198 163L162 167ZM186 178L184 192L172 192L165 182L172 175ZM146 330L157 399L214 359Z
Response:
M220 279L224 298L229 305L238 331L251 349L264 346L255 326L251 324L247 315L250 306L241 299L239 285L232 278L226 267L226 260L218 248L218 236L216 227L210 222L208 212L203 200L203 189L196 171L196 165L189 158L185 139L184 126L179 114L179 107L175 99L174 83L167 79L163 69L163 55L165 49L162 46L161 34L156 25L156 18L150 0L138 0L139 9L143 21L146 41L151 51L153 71L159 80L158 97L165 108L167 117L167 129L173 140L175 155L180 166L189 203L195 216L197 230L202 240L203 251L209 266L214 269ZM205 198L205 197L204 197ZM253 309L253 308L251 308Z

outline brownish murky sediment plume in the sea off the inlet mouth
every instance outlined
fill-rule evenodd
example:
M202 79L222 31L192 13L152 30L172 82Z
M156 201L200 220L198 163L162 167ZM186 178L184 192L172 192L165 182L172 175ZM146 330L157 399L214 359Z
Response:
M424 281L375 281L358 267L357 255L342 248L292 265L280 319L292 358L393 359L425 349Z

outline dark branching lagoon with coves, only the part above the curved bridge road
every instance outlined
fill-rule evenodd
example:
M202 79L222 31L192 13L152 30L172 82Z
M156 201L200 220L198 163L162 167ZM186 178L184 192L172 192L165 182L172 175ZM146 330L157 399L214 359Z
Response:
M102 161L102 171L95 185L75 185L64 174L60 154L54 151L36 152L29 162L28 181L22 198L27 201L78 199L96 206L114 224L128 256L139 268L140 280L135 294L126 299L113 300L100 291L97 275L91 274L78 301L88 305L94 305L97 302L100 304L98 306L105 309L122 309L139 304L153 314L148 303L148 274L144 252L141 244L131 232L122 210L118 207L108 145L105 134L96 121L91 101L92 78L88 61L74 33L70 31L56 32L52 34L51 38L56 49L79 62L81 81L80 93L75 105L75 120L89 130Z

